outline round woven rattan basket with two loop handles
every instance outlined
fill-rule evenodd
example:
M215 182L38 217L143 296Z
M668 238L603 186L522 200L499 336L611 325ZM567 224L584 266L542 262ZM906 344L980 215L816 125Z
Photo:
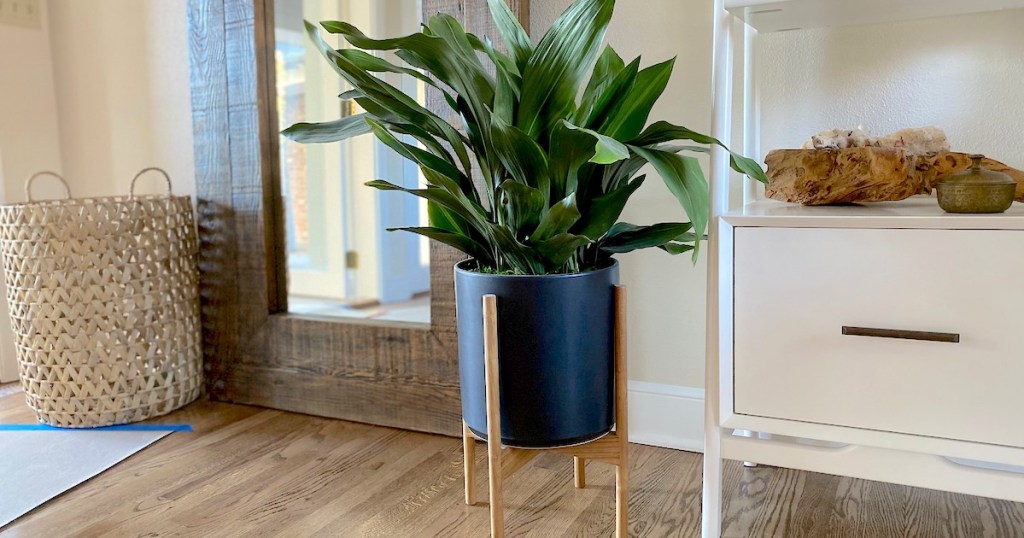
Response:
M147 171L168 194L135 196ZM51 175L65 200L33 201ZM146 168L129 196L73 199L51 172L0 206L0 251L18 373L41 422L102 426L162 415L202 390L191 201Z

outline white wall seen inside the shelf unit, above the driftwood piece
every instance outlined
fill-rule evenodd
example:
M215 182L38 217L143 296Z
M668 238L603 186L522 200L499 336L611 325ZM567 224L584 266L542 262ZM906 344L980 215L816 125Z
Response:
M1024 9L761 36L762 150L936 125L1024 168Z

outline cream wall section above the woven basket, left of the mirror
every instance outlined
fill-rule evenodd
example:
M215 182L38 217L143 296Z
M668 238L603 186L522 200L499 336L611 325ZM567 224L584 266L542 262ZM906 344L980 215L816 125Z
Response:
M50 0L60 152L75 196L159 166L196 192L185 0ZM154 177L140 192L159 192Z

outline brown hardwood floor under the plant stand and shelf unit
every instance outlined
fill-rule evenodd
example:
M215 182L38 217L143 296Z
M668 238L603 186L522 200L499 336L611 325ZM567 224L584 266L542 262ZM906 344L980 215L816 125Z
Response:
M0 423L32 422L20 392ZM482 537L463 504L460 440L198 402L160 419L193 424L0 529L11 537ZM699 454L631 445L631 536L695 537ZM2 457L2 455L0 455ZM613 468L541 456L506 483L509 536L604 537ZM1022 537L1024 504L826 474L726 467L728 537Z

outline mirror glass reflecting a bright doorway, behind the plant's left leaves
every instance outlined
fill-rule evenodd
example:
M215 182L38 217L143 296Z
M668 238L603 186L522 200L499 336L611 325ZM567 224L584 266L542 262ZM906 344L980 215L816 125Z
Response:
M354 101L339 99L350 88L312 46L303 20L346 20L374 37L408 35L419 30L420 5L418 0L275 0L276 106L283 128L360 112ZM382 78L424 102L422 82L392 74ZM425 225L426 205L362 184L378 178L423 184L414 164L373 136L325 144L281 138L289 312L429 323L427 240L386 231Z

